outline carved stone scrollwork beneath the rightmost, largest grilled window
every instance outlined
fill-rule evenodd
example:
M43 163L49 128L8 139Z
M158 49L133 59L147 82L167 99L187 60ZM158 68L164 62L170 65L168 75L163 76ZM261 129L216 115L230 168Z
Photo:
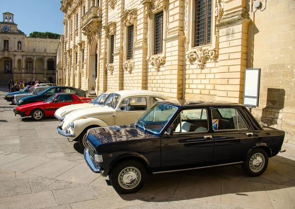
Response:
M206 59L213 59L217 56L217 49L209 50L203 49L202 47L198 48L196 51L192 51L187 54L186 60L191 63L197 62L197 65L200 69L204 69Z

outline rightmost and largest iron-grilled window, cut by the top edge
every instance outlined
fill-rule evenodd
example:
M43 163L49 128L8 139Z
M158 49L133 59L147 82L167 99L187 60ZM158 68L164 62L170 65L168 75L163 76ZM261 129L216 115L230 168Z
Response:
M195 46L211 42L211 0L196 0Z

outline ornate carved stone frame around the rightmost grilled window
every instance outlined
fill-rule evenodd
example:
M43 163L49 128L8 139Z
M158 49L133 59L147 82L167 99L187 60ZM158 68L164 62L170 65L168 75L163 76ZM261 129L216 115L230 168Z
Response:
M207 59L214 59L219 51L219 30L216 27L220 23L223 8L221 0L212 0L211 8L211 43L202 46L194 46L195 38L195 0L185 0L184 3L184 34L186 36L186 61L190 64L197 63L200 69L205 68Z

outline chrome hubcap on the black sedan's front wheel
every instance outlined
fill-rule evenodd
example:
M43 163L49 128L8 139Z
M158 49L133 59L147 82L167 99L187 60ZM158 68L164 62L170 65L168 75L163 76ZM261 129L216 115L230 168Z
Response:
M118 176L118 182L124 189L133 189L138 186L140 181L141 173L134 167L127 167L123 169Z

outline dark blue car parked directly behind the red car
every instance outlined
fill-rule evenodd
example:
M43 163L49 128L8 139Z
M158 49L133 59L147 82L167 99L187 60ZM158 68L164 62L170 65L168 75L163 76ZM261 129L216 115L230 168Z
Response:
M48 99L49 97L51 97L55 93L74 93L78 97L86 97L86 92L83 91L82 89L77 89L77 88L70 87L70 86L52 86L52 87L48 87L47 89L38 93L37 95L32 95L32 96L21 98L20 100L16 101L16 104L18 106L20 106L23 104L41 102L41 101Z

